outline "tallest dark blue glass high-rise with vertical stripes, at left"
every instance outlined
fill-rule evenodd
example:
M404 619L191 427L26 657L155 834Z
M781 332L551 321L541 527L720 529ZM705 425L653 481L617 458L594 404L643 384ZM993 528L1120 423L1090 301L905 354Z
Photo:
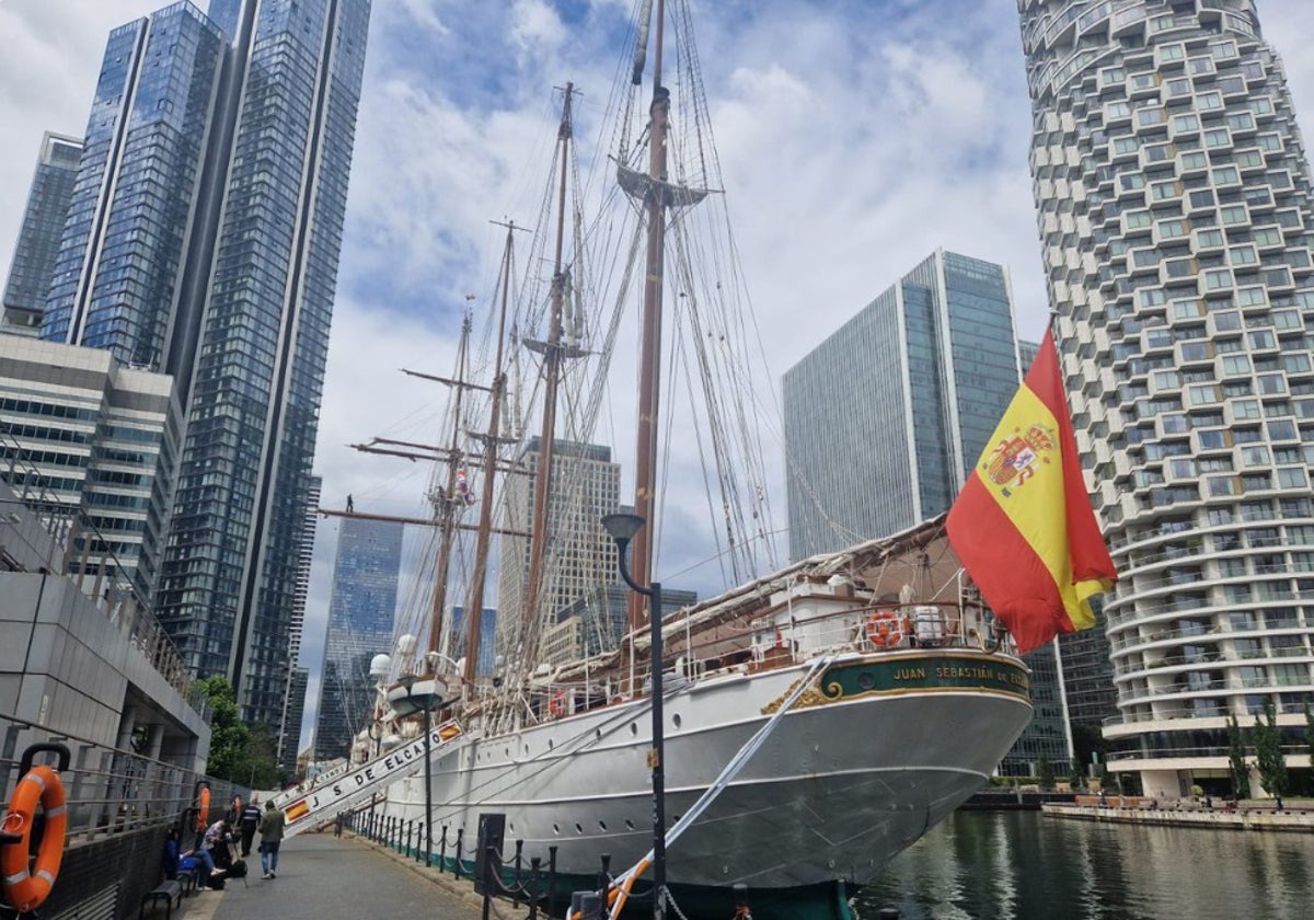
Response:
M42 336L173 376L156 614L276 723L369 0L187 3L110 33Z

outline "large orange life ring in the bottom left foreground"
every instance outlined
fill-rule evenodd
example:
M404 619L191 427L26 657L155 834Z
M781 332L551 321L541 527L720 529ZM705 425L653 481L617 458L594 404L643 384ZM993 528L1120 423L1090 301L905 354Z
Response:
M46 831L37 850L37 862L29 871L28 849L38 802L46 811ZM64 857L68 812L64 811L64 785L59 774L49 766L34 766L24 774L13 789L9 814L0 829L18 835L18 840L0 846L0 885L18 913L30 913L50 896Z

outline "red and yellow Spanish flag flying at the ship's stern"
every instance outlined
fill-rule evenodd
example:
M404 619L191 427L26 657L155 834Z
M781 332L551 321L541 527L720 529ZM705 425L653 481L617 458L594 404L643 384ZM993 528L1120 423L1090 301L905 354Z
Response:
M1020 653L1095 626L1091 597L1118 574L1081 480L1053 333L950 509L947 528Z

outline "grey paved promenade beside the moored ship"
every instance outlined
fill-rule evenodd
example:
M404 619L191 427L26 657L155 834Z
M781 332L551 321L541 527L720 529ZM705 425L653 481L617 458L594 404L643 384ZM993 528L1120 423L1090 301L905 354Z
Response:
M181 920L480 920L482 900L469 879L456 881L438 869L380 849L352 835L304 833L283 844L279 877L260 878L252 850L247 885L229 879L223 891L198 891L183 900ZM524 917L527 908L494 902L490 917ZM163 917L156 911L151 917ZM175 920L177 920L175 913Z

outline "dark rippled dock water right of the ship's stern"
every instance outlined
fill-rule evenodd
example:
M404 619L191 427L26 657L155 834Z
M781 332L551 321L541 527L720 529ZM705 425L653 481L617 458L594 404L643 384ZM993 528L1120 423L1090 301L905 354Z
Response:
M855 907L901 920L1305 920L1314 836L958 812L899 854Z

